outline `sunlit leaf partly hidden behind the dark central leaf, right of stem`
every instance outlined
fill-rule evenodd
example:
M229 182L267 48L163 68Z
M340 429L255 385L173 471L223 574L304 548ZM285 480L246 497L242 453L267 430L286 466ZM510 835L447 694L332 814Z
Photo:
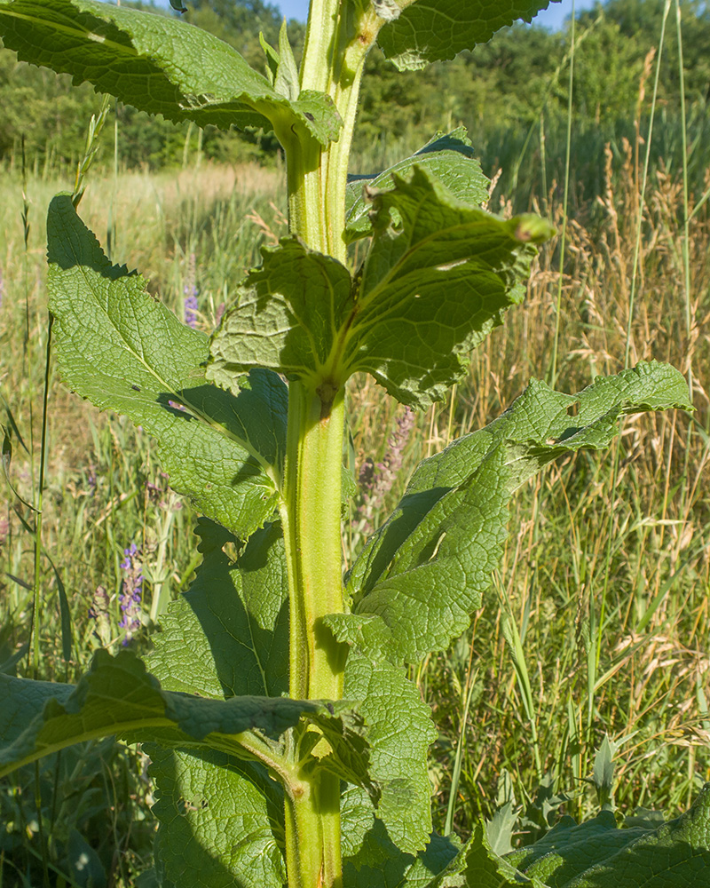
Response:
M446 135L435 136L414 155L377 175L349 178L345 199L345 239L348 242L372 234L372 202L367 198L366 187L367 191L390 188L392 173L401 176L414 164L429 170L460 201L480 206L488 199L489 180L474 156L466 127L460 126Z

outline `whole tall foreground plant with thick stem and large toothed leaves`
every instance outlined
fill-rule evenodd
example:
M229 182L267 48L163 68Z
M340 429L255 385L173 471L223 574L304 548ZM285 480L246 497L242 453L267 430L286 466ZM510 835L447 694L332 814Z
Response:
M146 662L101 650L76 686L0 675L0 773L80 741L142 743L160 823L142 884L708 884L710 791L675 821L619 829L608 754L593 821L567 818L508 854L483 823L462 845L433 834L436 731L412 680L480 606L516 488L558 456L607 447L625 414L690 408L680 373L642 363L576 394L533 380L417 466L343 575L348 380L371 374L414 410L445 397L523 300L553 234L482 209L488 182L462 130L349 181L367 52L377 43L400 69L426 67L547 5L312 0L300 67L284 24L278 47L263 42L263 75L173 18L0 0L0 33L21 59L171 121L268 128L287 163L288 235L263 250L212 337L106 258L77 215L78 185L49 210L62 375L157 440L172 487L204 516L201 564L189 591L157 603ZM36 634L31 650L36 663Z

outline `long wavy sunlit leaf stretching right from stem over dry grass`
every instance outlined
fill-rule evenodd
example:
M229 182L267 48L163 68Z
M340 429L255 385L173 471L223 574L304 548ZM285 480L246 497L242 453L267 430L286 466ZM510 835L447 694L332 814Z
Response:
M687 385L655 362L576 395L533 381L493 423L418 466L352 567L353 619L381 617L407 662L446 647L490 584L515 488L557 456L608 447L622 414L675 407L690 408Z

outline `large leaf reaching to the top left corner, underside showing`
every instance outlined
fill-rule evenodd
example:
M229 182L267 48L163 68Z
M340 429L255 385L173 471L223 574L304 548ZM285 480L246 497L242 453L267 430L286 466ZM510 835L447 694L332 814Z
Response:
M0 0L0 36L20 59L89 81L148 114L179 123L273 127L323 145L341 125L332 101L288 101L239 52L184 22L96 0Z

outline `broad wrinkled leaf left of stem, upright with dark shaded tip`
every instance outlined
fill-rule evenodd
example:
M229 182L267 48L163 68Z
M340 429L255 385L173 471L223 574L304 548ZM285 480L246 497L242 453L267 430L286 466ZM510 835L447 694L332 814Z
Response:
M47 230L67 385L154 435L172 487L247 537L278 505L286 386L258 369L236 397L208 385L208 337L178 321L138 274L111 265L67 195L51 202Z

